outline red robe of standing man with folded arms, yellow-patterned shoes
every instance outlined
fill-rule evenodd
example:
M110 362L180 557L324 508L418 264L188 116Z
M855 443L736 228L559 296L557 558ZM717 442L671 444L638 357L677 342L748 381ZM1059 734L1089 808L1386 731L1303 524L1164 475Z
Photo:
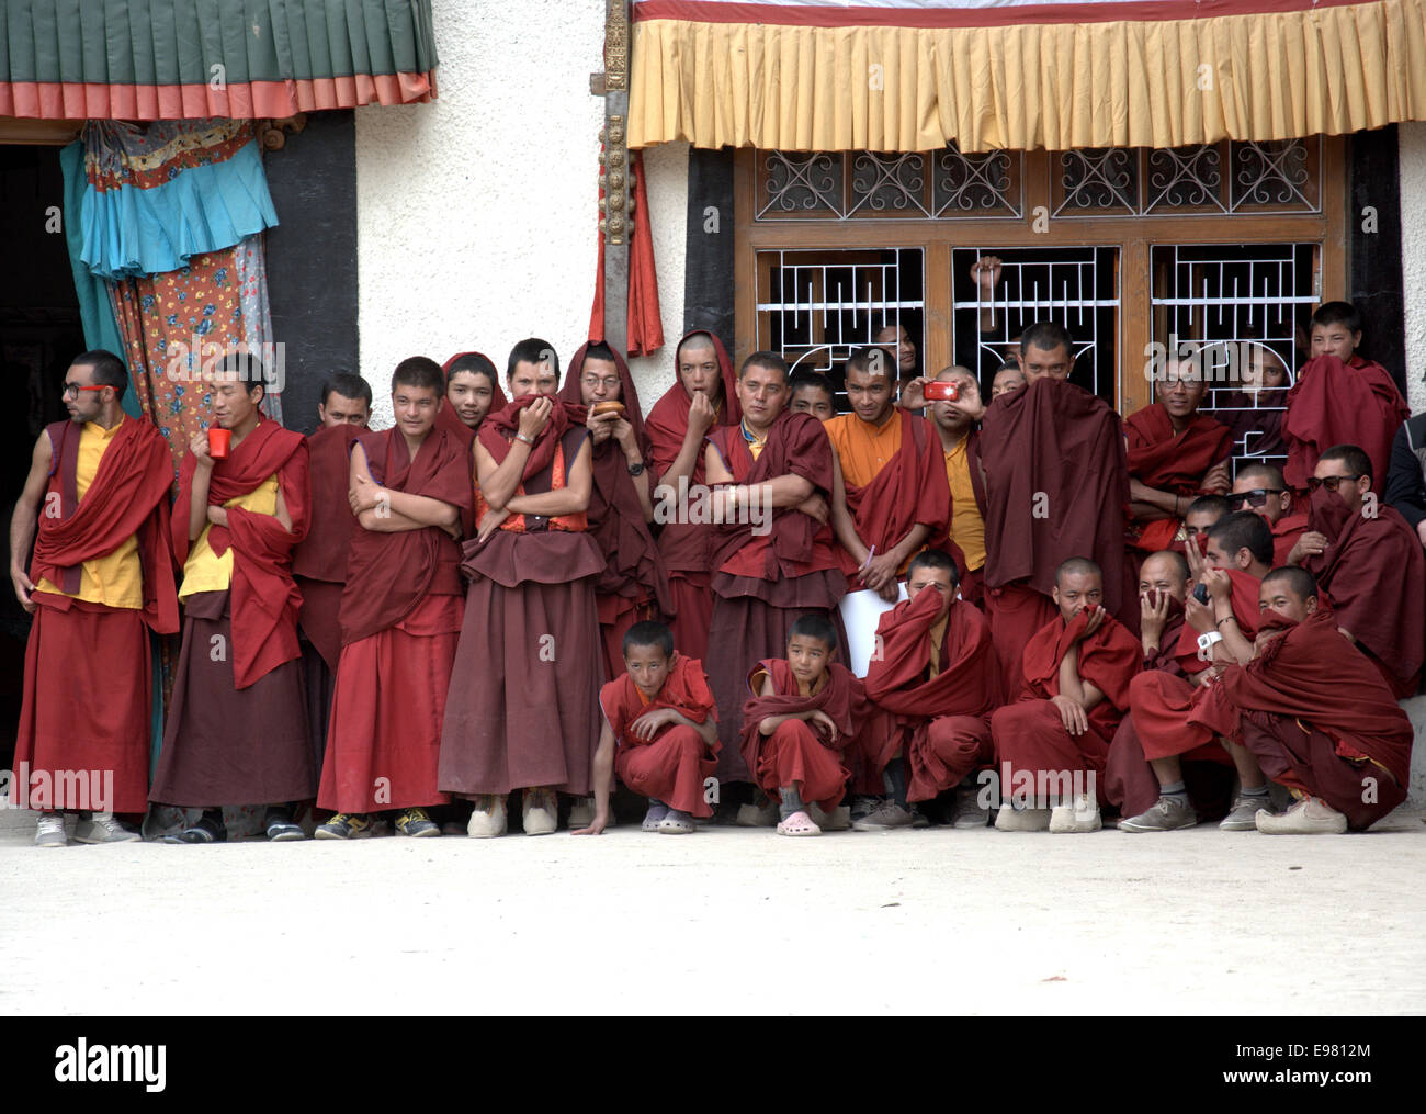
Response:
M399 429L358 441L376 484L449 504L471 529L469 442L459 434L432 428L415 458ZM321 807L369 813L448 800L436 763L465 610L459 568L459 543L438 526L352 531Z

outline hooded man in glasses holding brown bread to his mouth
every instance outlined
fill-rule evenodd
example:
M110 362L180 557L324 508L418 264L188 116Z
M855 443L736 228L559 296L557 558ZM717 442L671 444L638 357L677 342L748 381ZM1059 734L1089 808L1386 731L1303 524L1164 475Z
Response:
M649 523L653 474L639 391L629 367L603 344L586 344L565 372L559 392L570 419L589 429L595 484L589 531L605 571L595 586L605 676L623 672L623 636L635 623L673 613L673 593Z

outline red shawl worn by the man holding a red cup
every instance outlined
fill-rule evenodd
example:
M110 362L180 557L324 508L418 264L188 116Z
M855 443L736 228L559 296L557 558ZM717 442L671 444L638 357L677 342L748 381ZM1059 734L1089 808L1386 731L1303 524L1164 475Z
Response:
M174 556L181 565L188 559L188 509L193 478L198 459L184 456L178 476L178 499L173 509ZM302 595L292 579L292 551L307 538L311 519L307 438L260 417L257 428L235 444L228 456L212 466L208 482L208 506L222 506L247 495L277 475L278 491L292 519L292 529L282 529L274 515L260 515L241 508L228 509L228 525L208 528L208 545L217 556L231 546L232 562L232 672L240 689L282 665L299 658L297 616Z

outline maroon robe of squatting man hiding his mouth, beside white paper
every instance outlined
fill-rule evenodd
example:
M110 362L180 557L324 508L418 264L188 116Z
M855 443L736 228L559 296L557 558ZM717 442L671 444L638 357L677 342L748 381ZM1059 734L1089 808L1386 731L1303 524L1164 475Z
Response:
M1000 703L1000 663L990 623L954 601L941 636L940 669L928 678L940 593L901 601L877 625L878 653L867 668L867 695L891 715L878 749L863 752L857 787L880 793L881 772L900 752L907 800L930 800L994 760L990 713Z

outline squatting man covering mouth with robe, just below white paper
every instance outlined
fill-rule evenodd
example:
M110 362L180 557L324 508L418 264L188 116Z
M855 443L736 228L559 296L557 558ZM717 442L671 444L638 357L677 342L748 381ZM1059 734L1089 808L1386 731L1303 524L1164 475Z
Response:
M957 586L951 556L923 549L911 559L910 598L877 626L880 653L867 669L867 695L893 720L863 753L873 779L867 787L884 785L887 796L856 822L858 832L910 827L908 804L931 800L994 762L990 713L1000 703L1000 663L990 623L975 605L955 598ZM984 812L978 822L984 827Z

